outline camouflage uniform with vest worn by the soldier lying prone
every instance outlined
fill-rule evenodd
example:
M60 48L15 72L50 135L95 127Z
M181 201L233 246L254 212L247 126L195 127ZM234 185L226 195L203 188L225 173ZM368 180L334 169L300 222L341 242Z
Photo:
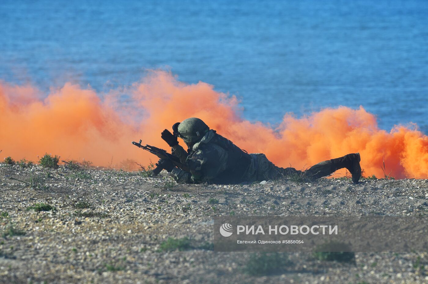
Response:
M317 179L334 172L330 160L303 173L294 168L279 168L265 154L247 154L215 130L205 133L188 152L177 145L172 154L190 167L190 172L172 169L170 175L177 183L241 183L273 180L291 174Z

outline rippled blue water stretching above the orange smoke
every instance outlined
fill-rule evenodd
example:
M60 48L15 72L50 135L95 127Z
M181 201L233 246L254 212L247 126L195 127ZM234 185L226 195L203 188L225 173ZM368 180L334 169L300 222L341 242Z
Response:
M428 133L428 1L0 1L0 79L103 91L146 68L277 124L363 105Z

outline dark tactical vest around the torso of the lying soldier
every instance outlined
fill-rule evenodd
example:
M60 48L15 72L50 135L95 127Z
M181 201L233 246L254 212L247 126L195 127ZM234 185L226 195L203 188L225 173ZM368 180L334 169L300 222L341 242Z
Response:
M220 146L228 153L226 170L221 172L212 181L215 183L241 183L242 177L251 163L250 154L244 152L241 148L233 144L232 141L217 133L214 133L214 137L209 143Z

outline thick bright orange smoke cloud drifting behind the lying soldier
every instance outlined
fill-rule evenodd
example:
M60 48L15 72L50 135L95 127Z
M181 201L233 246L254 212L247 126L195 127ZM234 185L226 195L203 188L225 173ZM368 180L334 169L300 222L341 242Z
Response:
M156 160L131 141L143 139L169 149L160 132L199 117L242 149L265 153L277 166L303 169L360 152L366 175L382 177L384 159L386 174L395 178L428 178L428 136L404 126L389 133L380 130L375 116L363 107L324 109L304 118L287 114L272 129L244 120L234 96L203 82L181 83L164 71L108 94L66 83L43 97L31 86L0 84L1 158L37 161L37 155L47 152L90 160L95 166L131 169L132 161L146 165Z

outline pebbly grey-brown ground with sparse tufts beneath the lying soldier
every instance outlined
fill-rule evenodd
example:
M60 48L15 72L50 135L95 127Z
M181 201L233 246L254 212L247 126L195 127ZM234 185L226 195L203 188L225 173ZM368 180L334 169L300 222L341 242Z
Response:
M352 262L288 253L278 271L255 276L253 253L215 252L210 239L213 216L426 216L428 180L178 185L5 164L0 179L0 283L428 283L427 253L356 253ZM37 211L40 203L53 210ZM168 247L170 237L188 241Z

